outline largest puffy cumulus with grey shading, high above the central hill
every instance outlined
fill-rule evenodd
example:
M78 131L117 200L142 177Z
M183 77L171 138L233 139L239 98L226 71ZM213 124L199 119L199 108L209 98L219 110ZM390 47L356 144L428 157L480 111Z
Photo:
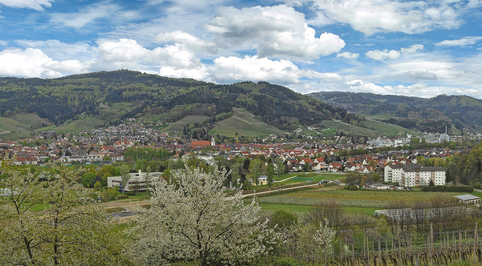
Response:
M219 7L205 28L217 36L218 43L255 48L260 57L312 60L345 46L345 41L333 33L325 32L317 38L305 14L287 5Z

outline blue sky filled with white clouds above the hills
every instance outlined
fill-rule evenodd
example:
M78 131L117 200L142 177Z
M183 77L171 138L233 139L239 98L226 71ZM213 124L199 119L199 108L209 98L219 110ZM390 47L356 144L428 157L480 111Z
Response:
M0 76L482 99L482 0L0 0Z

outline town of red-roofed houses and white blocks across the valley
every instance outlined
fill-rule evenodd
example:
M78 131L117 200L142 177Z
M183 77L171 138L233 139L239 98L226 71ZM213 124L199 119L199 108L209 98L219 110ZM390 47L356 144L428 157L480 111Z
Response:
M369 175L376 173L381 177L381 179L373 178L376 182L393 183L401 187L419 187L428 185L430 180L433 180L436 186L447 184L443 167L423 168L418 162L420 158L427 161L431 158L445 159L455 153L469 151L467 147L462 147L462 141L465 138L454 136L449 139L447 134L426 134L419 138L408 135L406 138L380 137L366 138L362 141L358 139L362 143L353 143L354 138L344 135L334 137L303 135L300 136L299 141L290 141L288 135L286 139L271 135L252 139L255 142L251 143L239 143L239 139L241 136L228 139L212 135L210 140L195 140L182 133L163 132L153 124L144 124L142 121L130 118L126 124L91 129L79 134L61 134L54 130L47 130L38 132L35 138L0 141L0 154L4 158L13 158L15 165L34 167L44 166L50 162L57 165L98 165L98 167L129 163L135 168L136 161L177 160L192 155L205 161L206 164L216 157L223 160L262 158L266 165L272 163L276 167L275 159L281 158L286 165L283 170L285 173L311 171L356 172ZM414 140L418 143L439 143L439 147L408 150ZM442 142L445 143L444 148L440 146ZM164 155L162 155L163 158L147 156L143 158L142 154L134 152L136 149L161 149ZM418 168L415 170L410 167ZM423 173L421 176L420 172ZM433 177L436 178L433 179ZM264 180L266 183L265 175L259 178L261 182ZM367 186L388 188L388 185L380 185L376 182L367 183Z

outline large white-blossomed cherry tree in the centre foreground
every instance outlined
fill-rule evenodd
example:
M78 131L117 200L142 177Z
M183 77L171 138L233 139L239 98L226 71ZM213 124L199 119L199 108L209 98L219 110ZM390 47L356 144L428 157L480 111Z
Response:
M135 207L133 257L140 265L169 265L183 260L237 264L266 254L263 244L272 230L258 222L255 200L244 205L241 190L226 197L226 170L209 173L194 168L177 174L176 182L151 180L150 208ZM231 193L234 188L231 188Z

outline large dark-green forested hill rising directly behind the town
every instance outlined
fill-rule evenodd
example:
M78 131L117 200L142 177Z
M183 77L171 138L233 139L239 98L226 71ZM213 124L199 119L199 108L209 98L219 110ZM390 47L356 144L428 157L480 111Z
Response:
M14 111L35 113L58 125L82 114L103 112L99 103L112 106L120 102L134 103L134 108L117 119L140 114L173 122L190 114L228 113L233 107L246 108L263 122L282 129L331 118L345 122L356 119L342 108L267 82L217 85L129 70L54 79L0 78L2 116ZM109 121L115 115L105 117Z

